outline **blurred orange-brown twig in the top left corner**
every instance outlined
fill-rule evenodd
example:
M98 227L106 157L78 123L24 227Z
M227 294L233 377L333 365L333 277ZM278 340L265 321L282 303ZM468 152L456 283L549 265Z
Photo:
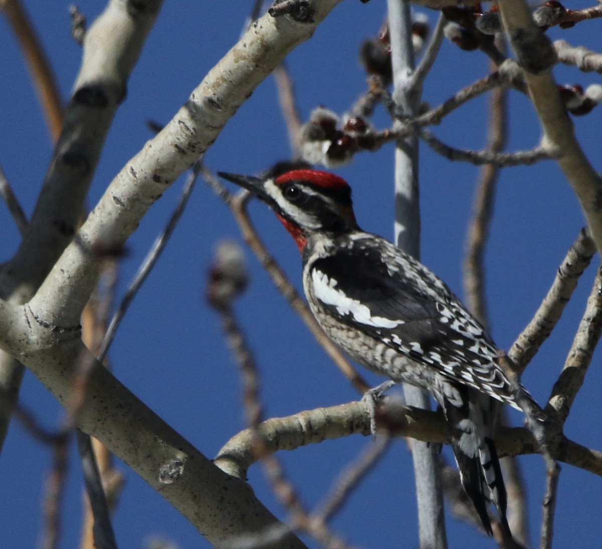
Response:
M19 0L0 0L0 7L7 16L14 34L19 40L23 57L31 73L31 79L46 117L52 141L56 141L63 127L63 102L54 73Z

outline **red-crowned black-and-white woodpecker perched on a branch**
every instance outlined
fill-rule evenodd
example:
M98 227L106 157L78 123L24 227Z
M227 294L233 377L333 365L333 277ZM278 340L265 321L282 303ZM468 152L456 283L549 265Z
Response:
M340 177L315 170L219 175L267 203L293 236L309 307L330 339L373 372L432 394L484 529L492 535L491 502L510 533L492 424L498 403L520 407L479 322L426 266L359 228Z

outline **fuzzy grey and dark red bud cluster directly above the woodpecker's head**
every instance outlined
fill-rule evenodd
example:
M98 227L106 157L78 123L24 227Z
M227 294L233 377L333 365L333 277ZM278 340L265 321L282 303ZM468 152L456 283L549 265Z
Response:
M303 160L337 168L348 164L358 150L374 147L374 128L363 117L344 115L341 121L335 112L322 106L311 113L301 130Z

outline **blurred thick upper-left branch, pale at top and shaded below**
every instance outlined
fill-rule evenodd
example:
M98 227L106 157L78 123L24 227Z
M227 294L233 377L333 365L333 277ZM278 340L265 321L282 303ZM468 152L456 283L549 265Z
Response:
M0 269L0 298L19 304L31 299L72 240L105 136L161 4L111 0L87 32L79 75L36 209L19 250ZM0 446L22 376L23 367L0 352L0 397L9 403L0 416Z

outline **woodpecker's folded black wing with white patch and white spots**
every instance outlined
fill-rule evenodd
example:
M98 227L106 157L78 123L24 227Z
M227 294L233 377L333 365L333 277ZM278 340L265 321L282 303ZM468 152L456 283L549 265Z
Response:
M515 405L479 322L429 269L382 242L381 250L356 242L312 263L323 307L450 381Z

